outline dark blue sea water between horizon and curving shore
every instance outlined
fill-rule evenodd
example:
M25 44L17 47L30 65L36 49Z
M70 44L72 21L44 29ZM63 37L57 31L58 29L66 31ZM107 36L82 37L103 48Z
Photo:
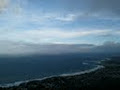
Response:
M96 67L101 59L78 54L0 57L0 84L80 72Z

